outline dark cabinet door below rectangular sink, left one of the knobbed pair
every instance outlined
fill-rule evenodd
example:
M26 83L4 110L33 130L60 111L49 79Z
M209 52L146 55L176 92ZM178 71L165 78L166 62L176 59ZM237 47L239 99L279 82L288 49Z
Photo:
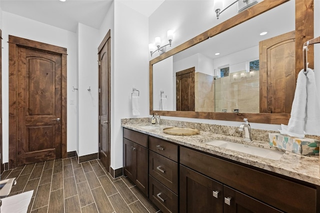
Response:
M223 186L180 165L180 213L222 213Z

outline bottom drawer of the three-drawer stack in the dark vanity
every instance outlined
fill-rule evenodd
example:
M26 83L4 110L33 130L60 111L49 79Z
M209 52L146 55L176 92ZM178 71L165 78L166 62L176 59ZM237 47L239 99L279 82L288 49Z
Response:
M163 213L178 212L178 196L149 175L149 199Z

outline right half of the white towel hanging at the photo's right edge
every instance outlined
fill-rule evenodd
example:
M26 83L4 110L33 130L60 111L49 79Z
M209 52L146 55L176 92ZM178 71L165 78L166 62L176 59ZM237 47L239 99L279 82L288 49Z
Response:
M320 135L320 102L315 85L314 72L307 68L306 73L306 117L304 134Z

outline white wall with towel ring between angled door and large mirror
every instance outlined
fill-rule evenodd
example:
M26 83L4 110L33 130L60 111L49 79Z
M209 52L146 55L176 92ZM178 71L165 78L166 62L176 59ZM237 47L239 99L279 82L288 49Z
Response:
M107 24L106 24L107 25ZM100 31L103 30L102 28ZM107 29L104 29L107 30ZM121 118L148 116L148 18L114 1L111 37L111 167L122 168ZM103 34L103 33L102 33ZM113 63L112 63L113 62ZM140 116L132 116L132 88L140 91Z

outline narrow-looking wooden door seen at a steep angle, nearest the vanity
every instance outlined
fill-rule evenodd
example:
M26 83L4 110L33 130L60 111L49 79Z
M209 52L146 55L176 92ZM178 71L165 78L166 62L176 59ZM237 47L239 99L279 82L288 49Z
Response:
M99 159L110 172L110 30L98 48Z

